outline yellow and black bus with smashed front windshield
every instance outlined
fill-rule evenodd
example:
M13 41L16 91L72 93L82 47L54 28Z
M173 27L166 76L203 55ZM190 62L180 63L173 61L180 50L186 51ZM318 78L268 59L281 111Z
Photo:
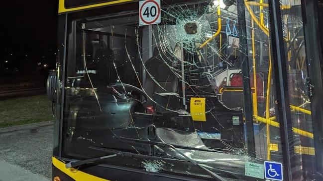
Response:
M317 0L59 0L53 181L322 181Z

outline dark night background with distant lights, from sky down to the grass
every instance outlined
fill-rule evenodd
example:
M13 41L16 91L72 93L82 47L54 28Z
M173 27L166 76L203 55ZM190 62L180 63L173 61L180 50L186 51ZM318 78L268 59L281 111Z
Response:
M55 68L58 0L0 0L0 91L45 86Z

